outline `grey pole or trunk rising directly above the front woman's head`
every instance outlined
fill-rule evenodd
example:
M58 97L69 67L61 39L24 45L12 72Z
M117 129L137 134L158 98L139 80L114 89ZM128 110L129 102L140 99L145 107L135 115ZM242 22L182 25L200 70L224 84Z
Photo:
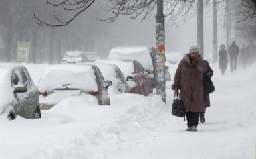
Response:
M201 57L203 58L203 0L198 0L197 2L197 46L199 47Z

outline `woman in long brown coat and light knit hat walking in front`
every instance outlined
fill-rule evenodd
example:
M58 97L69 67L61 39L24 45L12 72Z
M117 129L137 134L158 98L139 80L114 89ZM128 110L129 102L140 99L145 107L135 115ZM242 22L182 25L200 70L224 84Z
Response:
M192 46L189 53L180 61L174 76L172 90L180 89L180 96L184 103L188 129L197 131L199 113L205 113L203 99L203 72L207 64L199 54L199 48Z

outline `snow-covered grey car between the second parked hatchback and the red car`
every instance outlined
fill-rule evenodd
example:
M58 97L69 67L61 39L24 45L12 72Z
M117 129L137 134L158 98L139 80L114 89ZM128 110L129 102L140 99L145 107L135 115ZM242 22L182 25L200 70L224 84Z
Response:
M113 85L108 89L111 95L116 95L119 93L129 93L128 83L121 70L115 64L106 64L97 60L94 62L105 79L112 81Z

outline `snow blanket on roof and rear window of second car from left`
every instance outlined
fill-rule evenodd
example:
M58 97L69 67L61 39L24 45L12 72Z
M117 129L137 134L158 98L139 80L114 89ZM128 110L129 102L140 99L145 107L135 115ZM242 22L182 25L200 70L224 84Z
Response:
M47 66L39 81L39 91L65 87L98 91L98 84L92 66L84 64Z

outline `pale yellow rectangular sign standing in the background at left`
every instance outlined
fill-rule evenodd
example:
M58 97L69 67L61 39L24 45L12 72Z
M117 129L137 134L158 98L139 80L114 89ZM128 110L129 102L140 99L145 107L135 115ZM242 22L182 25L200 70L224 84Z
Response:
M29 62L30 42L18 42L17 62Z

